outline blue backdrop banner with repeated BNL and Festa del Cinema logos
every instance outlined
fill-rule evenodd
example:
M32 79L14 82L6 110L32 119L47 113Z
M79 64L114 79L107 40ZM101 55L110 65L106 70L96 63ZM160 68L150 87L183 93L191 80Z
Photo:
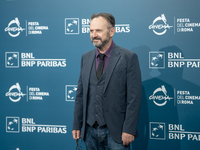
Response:
M94 48L89 18L99 12L115 16L114 42L139 57L140 136L131 149L198 149L199 6L195 0L1 0L0 149L76 149L80 61Z

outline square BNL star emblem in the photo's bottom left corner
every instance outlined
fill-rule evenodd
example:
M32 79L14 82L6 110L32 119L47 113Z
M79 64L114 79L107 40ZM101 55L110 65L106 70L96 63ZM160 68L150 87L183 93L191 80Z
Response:
M19 133L19 117L6 117L6 132Z

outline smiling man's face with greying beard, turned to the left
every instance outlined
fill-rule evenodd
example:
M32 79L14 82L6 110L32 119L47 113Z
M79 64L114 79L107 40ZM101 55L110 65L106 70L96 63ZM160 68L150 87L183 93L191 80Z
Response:
M103 48L110 41L111 25L103 17L94 18L90 22L90 38L93 45L97 48Z

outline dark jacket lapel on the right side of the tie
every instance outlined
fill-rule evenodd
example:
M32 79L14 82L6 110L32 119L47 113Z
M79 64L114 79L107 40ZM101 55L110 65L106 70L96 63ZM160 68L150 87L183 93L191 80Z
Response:
M111 56L110 56L109 64L106 68L106 78L105 78L105 86L104 86L103 93L106 91L112 72L120 57L121 57L121 52L119 51L117 46L114 45Z

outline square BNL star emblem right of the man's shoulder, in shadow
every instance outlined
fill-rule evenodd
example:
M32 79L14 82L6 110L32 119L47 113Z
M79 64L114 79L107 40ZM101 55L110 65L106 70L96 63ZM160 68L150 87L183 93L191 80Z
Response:
M149 68L165 68L165 52L149 52Z

